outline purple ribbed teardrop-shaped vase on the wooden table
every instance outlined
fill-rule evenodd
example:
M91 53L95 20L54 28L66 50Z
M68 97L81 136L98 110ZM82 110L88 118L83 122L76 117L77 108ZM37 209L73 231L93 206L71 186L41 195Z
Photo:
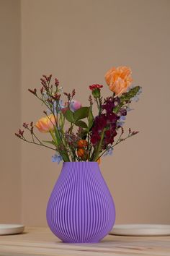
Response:
M99 242L115 223L115 205L97 162L66 162L47 207L50 230L63 242Z

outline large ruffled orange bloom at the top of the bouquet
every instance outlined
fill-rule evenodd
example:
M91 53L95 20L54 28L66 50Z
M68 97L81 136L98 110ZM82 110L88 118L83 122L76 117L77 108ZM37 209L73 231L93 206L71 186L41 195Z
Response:
M109 85L109 89L115 93L115 96L121 95L127 91L133 80L131 74L131 69L125 66L117 68L112 67L112 69L109 69L105 74L107 85Z

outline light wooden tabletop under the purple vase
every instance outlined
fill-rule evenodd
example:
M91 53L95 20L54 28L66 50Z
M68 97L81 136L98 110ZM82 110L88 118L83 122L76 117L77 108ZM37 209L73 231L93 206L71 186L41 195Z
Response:
M98 244L64 244L47 228L26 228L23 234L0 236L0 256L170 256L170 236L107 236Z

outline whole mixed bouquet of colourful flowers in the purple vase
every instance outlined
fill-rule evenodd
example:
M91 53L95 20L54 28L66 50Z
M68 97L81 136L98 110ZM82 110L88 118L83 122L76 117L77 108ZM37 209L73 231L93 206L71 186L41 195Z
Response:
M129 129L127 135L124 135L123 129L126 115L131 110L130 103L138 101L142 90L140 86L131 86L131 73L128 67L109 69L105 81L112 93L103 98L103 85L90 85L89 106L81 106L74 99L74 89L71 93L65 93L57 78L52 81L52 75L43 75L40 90L35 88L29 91L45 106L45 116L36 124L24 122L24 129L19 129L15 135L25 142L54 150L53 162L99 163L102 155L112 155L116 145L138 133ZM94 114L95 104L97 114ZM48 132L51 140L40 140L35 127L39 132ZM25 137L24 130L30 132L29 138Z

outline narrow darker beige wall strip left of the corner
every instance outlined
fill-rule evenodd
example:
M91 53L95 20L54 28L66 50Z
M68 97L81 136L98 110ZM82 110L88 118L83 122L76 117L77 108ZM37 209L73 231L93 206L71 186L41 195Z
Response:
M0 0L0 223L21 221L20 1Z

